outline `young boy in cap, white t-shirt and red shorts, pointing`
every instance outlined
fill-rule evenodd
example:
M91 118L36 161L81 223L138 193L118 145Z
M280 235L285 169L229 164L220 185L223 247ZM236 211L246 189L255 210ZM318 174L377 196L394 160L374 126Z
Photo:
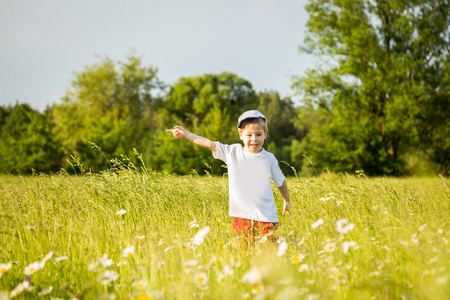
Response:
M286 178L275 156L262 147L267 137L266 117L257 110L249 110L238 119L241 144L225 145L193 134L181 126L166 130L174 138L185 138L208 148L214 158L227 164L229 182L229 210L233 230L248 237L263 236L278 226L277 208L271 179L284 200L283 215L290 216L290 196Z

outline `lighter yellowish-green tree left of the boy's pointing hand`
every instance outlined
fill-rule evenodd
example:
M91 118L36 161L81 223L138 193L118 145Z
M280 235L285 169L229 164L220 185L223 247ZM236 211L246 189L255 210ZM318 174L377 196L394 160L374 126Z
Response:
M133 148L157 127L153 108L162 84L156 73L130 55L126 62L106 58L76 74L62 103L53 108L55 133L66 157L76 155L85 168L98 171L109 167L107 159L132 156Z

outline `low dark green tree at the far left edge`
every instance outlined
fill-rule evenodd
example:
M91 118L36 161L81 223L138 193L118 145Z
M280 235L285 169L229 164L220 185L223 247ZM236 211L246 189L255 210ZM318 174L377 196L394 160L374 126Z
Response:
M53 138L52 127L49 115L27 104L16 104L1 127L0 171L57 171L61 164L60 145Z

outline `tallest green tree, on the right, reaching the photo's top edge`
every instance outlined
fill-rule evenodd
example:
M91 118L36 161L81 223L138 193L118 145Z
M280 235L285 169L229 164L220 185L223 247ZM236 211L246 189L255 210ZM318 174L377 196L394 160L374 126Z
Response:
M295 82L326 113L304 140L334 171L401 174L420 151L450 166L448 1L313 0L302 51L326 66Z

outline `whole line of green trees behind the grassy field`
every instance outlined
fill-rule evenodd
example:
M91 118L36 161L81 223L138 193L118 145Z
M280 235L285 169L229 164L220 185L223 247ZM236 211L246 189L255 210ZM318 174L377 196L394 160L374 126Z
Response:
M449 174L449 2L312 0L306 9L300 51L323 63L293 80L301 103L232 73L167 85L135 55L105 58L76 73L43 113L0 107L0 172L98 172L128 162L222 174L209 151L165 129L238 143L237 118L258 109L269 123L265 148L287 174Z

